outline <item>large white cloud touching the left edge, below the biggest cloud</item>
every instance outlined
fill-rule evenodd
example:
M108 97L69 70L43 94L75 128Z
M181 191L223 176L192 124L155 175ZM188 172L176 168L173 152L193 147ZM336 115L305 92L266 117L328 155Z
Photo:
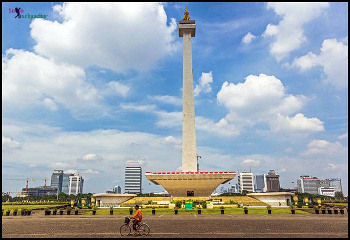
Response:
M2 55L2 101L7 110L42 104L55 110L59 103L77 118L100 116L105 111L102 98L79 67L12 48Z

